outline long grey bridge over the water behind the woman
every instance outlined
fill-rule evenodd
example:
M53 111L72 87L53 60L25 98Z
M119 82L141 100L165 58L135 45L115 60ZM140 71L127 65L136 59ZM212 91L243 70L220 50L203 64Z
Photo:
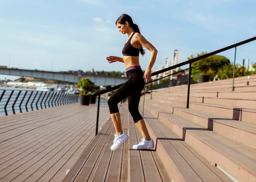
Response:
M19 77L33 77L79 83L83 78L90 79L95 86L115 86L124 83L127 77L114 77L105 75L89 75L85 73L51 72L42 70L23 70L18 68L0 68L0 75L11 75Z

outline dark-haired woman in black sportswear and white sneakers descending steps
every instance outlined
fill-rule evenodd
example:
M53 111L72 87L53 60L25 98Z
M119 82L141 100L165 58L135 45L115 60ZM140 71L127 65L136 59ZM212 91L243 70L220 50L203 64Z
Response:
M140 34L138 26L133 23L132 18L129 15L121 15L117 19L116 25L119 32L128 34L128 39L126 40L122 51L124 57L109 56L106 59L109 63L114 63L116 61L124 63L128 81L112 94L108 100L110 116L116 132L113 145L110 149L117 149L129 138L129 136L122 130L120 113L117 107L117 104L126 98L128 98L128 108L133 121L143 136L142 141L138 145L133 145L132 148L153 148L153 139L151 139L148 134L144 119L139 113L138 107L141 91L144 88L145 82L148 83L151 80L151 69L155 63L157 50ZM139 66L139 52L142 56L145 54L145 50L142 46L151 52L149 64L144 74Z

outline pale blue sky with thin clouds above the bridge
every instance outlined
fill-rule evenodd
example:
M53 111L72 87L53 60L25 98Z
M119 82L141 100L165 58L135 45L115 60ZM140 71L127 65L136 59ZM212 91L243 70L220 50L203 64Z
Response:
M125 71L122 57L128 35L115 21L125 13L158 50L153 66L179 62L191 53L210 53L256 36L255 0L0 0L0 65L45 71ZM239 46L236 64L256 62L256 41ZM235 50L219 55L234 63ZM140 55L145 70L150 51ZM171 66L171 63L170 63ZM184 66L184 69L188 66ZM0 75L0 79L16 79Z

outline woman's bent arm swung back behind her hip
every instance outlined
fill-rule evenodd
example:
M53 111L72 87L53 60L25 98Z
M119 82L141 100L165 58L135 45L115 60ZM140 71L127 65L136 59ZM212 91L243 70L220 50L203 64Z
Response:
M157 59L157 49L139 33L137 33L137 36L135 36L135 40L137 40L139 44L141 44L151 52L148 67L144 72L144 80L146 83L148 83L149 81L151 81L151 69L153 68L155 60Z

